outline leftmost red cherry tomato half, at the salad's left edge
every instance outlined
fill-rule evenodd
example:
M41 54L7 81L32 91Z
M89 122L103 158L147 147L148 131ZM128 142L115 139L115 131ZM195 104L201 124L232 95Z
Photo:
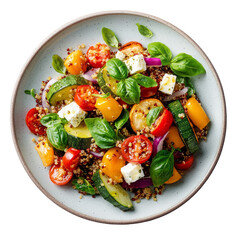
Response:
M32 108L28 111L25 121L29 130L33 134L38 136L46 135L47 128L40 123L39 112L36 108Z

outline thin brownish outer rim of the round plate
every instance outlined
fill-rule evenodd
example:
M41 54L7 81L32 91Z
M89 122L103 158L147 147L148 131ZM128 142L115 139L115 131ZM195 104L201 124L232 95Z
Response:
M133 219L133 220L107 220L107 219L102 219L102 218L98 218L98 217L92 217L92 216L88 216L86 214L83 213L79 213L78 211L75 211L73 209L71 209L70 207L64 205L63 203L59 202L57 199L55 199L48 191L46 191L41 184L37 181L37 179L34 177L34 175L32 174L32 172L30 171L29 167L27 166L22 154L21 154L21 150L20 147L18 145L17 142L17 138L16 138L16 131L15 131L15 126L14 126L14 112L15 112L15 101L16 101L16 96L17 96L17 90L18 87L20 85L21 79L26 71L26 69L28 68L29 64L32 62L33 58L38 54L38 52L49 42L51 41L52 38L54 38L57 34L59 34L60 32L66 30L68 27L71 27L75 24L79 24L82 21L86 21L86 20L90 20L92 18L95 17L101 17L101 16L107 16L107 15L133 15L133 16L139 16L139 17L144 17L144 18L149 18L151 20L155 20L159 23L162 23L164 25L166 25L167 27L170 27L171 29L173 29L174 31L176 31L177 33L181 34L186 40L188 40L194 47L195 49L198 50L198 52L201 54L201 56L204 58L204 60L206 61L206 63L208 64L208 66L210 67L214 78L217 81L217 84L219 86L220 89L220 96L221 96L221 100L222 100L222 112L223 112L223 126L222 126L222 136L221 136L221 142L220 142L220 147L217 151L217 154L215 155L215 159L213 161L213 164L211 166L211 168L208 170L206 176L204 177L204 179L200 182L200 184L198 186L196 186L196 188L188 195L186 196L182 201L180 201L178 204L174 205L173 207L166 209L165 211L163 211L162 213L157 213L155 215L151 215L148 217L142 217L142 218L137 218L137 219ZM209 176L211 175L211 173L213 172L219 157L221 155L222 149L223 149L223 145L224 145L224 141L225 141L225 136L226 136L226 128L227 128L227 112L226 112L226 101L225 101L225 96L224 96L224 92L223 92L223 88L222 88L222 84L221 81L219 79L219 76L213 66L213 64L211 63L211 61L209 60L209 58L207 57L207 55L205 54L205 52L200 48L200 46L191 38L189 37L185 32L183 32L182 30L180 30L178 27L176 27L175 25L150 14L147 13L142 13L142 12L136 12L136 11L129 11L129 10L110 10L110 11L101 11L101 12L95 12L95 13L91 13L88 15L84 15L81 16L79 18L76 18L66 24L64 24L63 26L59 27L58 29L56 29L52 34L50 34L48 37L46 37L40 44L39 46L33 51L33 53L30 55L30 57L28 58L28 60L26 61L25 65L23 66L18 80L15 83L15 88L13 91L13 96L12 96L12 101L11 101L11 117L10 117L10 121L11 121L11 133L12 133L12 138L13 138L13 142L14 142L14 146L15 149L17 151L18 157L25 169L25 171L27 172L28 176L31 178L31 180L34 182L34 184L42 191L42 193L48 197L50 200L52 200L55 204L57 204L59 207L63 208L64 210L87 220L91 220L94 222L100 222L100 223L106 223L106 224L133 224L133 223L141 223L141 222L146 222L146 221L150 221L159 217L162 217L174 210L176 210L177 208L179 208L180 206L182 206L184 203L186 203L189 199L191 199L199 190L200 188L205 184L205 182L207 181L207 179L209 178Z

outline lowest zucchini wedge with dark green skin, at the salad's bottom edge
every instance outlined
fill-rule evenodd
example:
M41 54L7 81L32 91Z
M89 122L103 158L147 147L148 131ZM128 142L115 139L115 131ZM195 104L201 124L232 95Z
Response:
M93 181L102 197L118 207L122 211L133 210L131 198L120 184L112 185L108 183L108 177L97 171L93 175Z

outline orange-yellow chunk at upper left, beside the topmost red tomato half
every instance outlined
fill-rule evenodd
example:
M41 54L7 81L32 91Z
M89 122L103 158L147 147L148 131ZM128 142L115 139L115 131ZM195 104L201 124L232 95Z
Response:
M65 62L68 72L73 75L85 73L87 70L87 61L82 51L77 50L70 53Z

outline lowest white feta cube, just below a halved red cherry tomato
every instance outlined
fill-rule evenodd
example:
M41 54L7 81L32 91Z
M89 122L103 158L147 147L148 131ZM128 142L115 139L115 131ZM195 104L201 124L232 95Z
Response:
M121 168L121 173L126 183L130 184L136 182L138 179L144 177L141 164L128 163Z

